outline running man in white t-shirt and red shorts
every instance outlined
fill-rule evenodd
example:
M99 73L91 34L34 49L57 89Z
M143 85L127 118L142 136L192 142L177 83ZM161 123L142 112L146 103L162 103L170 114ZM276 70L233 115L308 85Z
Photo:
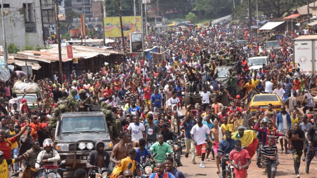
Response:
M203 124L203 118L197 118L197 124L193 126L192 130L190 131L190 136L195 144L196 147L196 155L202 155L202 161L200 163L200 168L205 168L203 165L206 155L206 134L209 134L209 128L207 125Z

